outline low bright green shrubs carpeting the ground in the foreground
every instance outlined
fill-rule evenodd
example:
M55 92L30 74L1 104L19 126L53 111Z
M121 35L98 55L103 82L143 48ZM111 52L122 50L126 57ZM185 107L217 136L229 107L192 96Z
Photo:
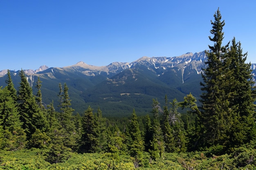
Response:
M253 170L256 168L254 162L255 150L248 147L238 148L231 154L206 157L203 152L189 153L165 153L162 159L150 160L148 155L144 155L140 167L134 167L133 158L128 155L120 155L119 160L113 162L111 155L98 153L77 154L68 152L69 159L62 162L50 164L45 161L48 155L47 150L29 149L18 151L0 151L0 169L4 170L73 170L73 169L92 169L92 170ZM146 162L144 162L146 161Z

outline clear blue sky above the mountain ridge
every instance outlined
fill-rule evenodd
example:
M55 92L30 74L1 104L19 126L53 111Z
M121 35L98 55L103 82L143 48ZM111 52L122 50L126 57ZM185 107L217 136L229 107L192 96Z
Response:
M106 66L212 45L213 14L256 63L256 4L244 0L0 0L0 70Z

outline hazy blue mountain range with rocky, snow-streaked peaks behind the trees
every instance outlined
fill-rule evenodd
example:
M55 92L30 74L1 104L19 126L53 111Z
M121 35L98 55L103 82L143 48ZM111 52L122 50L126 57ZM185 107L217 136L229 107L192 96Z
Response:
M192 93L200 98L201 71L207 59L205 52L186 53L177 57L141 57L128 62L113 62L108 66L92 66L78 62L63 68L41 66L37 70L24 70L29 84L36 93L37 77L42 81L42 97L45 105L54 102L58 108L58 84L66 83L72 108L82 114L88 106L99 107L109 117L145 115L152 110L153 99L161 106L164 97L182 101ZM252 64L254 80L256 64ZM19 71L10 71L18 89ZM6 86L7 70L0 71L0 86Z

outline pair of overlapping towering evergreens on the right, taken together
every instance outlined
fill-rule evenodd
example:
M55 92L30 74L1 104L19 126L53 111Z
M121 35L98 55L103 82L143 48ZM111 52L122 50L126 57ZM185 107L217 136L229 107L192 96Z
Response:
M214 43L209 46L207 67L202 77L202 114L204 146L219 148L218 153L230 150L249 142L255 136L253 102L254 87L250 64L245 64L246 55L241 44L232 40L222 46L224 21L221 21L219 9L214 15L210 31Z

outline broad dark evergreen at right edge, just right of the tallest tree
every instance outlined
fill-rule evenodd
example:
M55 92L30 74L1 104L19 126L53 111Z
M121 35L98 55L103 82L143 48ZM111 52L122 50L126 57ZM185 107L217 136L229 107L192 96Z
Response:
M234 148L249 143L255 138L255 92L251 64L247 64L247 53L243 54L241 43L232 40L228 58L225 61L227 81L225 88L230 111L226 146ZM230 109L231 108L231 109Z

